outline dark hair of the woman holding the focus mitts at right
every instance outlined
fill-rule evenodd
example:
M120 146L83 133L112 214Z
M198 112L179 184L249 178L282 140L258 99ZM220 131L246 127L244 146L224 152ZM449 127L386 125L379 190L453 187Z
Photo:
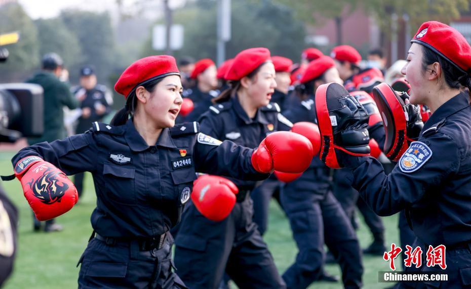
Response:
M427 65L438 62L442 67L443 77L445 78L447 85L456 89L467 88L471 99L471 79L467 72L461 70L449 60L423 45L422 53L422 70L425 71L427 69Z

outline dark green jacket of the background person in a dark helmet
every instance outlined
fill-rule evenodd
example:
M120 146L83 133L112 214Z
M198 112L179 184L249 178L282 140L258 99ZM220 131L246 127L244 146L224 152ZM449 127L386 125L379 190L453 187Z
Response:
M70 93L68 84L48 71L40 71L26 82L39 84L44 89L44 134L42 137L28 138L29 144L66 137L63 107L75 109L79 104Z

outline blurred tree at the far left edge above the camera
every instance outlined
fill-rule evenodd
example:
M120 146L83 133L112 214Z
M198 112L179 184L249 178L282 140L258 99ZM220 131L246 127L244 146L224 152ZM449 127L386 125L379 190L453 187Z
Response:
M33 21L17 3L8 3L0 7L0 34L20 32L20 40L7 45L10 56L6 63L0 64L0 76L3 81L21 81L22 76L40 64L37 30Z

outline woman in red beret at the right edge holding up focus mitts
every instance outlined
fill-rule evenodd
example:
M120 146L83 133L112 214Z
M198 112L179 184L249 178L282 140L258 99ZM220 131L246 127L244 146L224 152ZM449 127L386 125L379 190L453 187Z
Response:
M426 105L432 112L418 140L388 175L371 157L342 153L341 162L378 215L406 210L417 236L413 247L420 246L423 252L420 268L413 265L406 271L448 274L447 281L411 286L467 288L471 286L471 46L457 30L436 21L423 23L411 42L401 71L411 86L410 103ZM427 266L427 251L440 245L446 246L444 262Z

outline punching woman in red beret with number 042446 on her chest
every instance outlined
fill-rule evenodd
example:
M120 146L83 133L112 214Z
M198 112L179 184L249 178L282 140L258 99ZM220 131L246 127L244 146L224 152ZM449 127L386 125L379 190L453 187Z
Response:
M252 149L200 133L197 122L174 126L182 85L171 56L136 61L115 90L127 103L111 125L95 122L84 134L27 147L13 158L15 173L36 215L47 219L76 202L62 171L92 172L97 207L79 287L184 287L172 272L168 231L180 220L195 171L259 180L268 175L253 165L266 164ZM71 206L58 209L63 204Z

